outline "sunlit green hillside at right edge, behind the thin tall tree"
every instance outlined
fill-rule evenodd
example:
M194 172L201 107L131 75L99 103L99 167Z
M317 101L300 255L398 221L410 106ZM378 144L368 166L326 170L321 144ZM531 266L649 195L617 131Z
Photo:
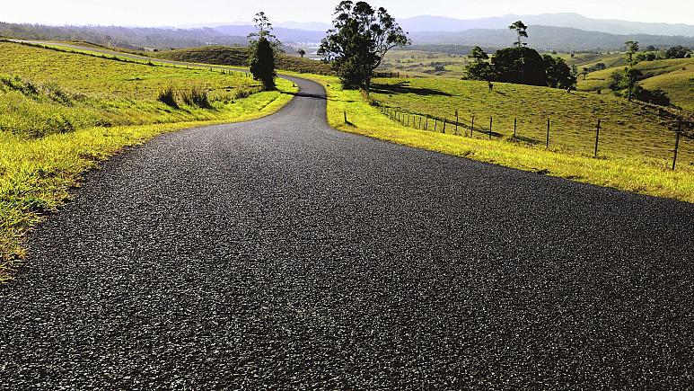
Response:
M608 67L610 63L605 63ZM610 76L623 64L578 77L579 91L607 92ZM694 58L673 58L655 61L643 61L635 66L643 72L645 78L639 82L644 88L654 90L662 88L672 99L672 103L683 109L694 111Z

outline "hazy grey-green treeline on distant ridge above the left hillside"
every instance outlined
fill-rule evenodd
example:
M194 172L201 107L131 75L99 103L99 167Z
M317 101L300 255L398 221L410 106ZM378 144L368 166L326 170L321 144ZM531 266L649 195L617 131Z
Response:
M0 22L0 36L18 40L83 40L129 50L246 45L245 37L224 35L213 29L154 29L118 26L45 26Z

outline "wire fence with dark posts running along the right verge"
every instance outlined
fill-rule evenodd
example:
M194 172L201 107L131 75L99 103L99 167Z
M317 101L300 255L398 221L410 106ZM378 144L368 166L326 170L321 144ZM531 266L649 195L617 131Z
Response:
M595 158L636 157L694 166L694 120L660 120L641 128L628 120L567 120L564 117L521 118L495 112L456 111L451 118L403 110L377 102L381 113L400 125L468 138L504 139Z

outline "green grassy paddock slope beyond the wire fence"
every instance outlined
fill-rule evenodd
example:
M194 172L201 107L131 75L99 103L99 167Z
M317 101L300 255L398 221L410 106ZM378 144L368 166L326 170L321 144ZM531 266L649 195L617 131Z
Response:
M518 136L529 143L544 144L547 120L550 120L550 146L575 154L593 153L595 127L603 119L600 153L611 157L650 157L665 164L672 159L674 134L663 126L661 111L640 102L627 102L611 94L567 93L563 90L520 84L495 83L488 91L484 82L454 79L378 79L374 81L373 99L404 111L455 119L470 127L476 116L475 129L493 129L497 135L510 138L514 119L518 119ZM454 128L448 127L452 132ZM681 162L694 164L694 142L681 143Z

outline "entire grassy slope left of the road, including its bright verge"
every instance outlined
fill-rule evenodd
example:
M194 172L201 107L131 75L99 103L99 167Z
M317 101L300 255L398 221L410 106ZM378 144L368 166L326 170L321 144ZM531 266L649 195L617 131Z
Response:
M0 130L0 281L9 278L14 263L25 255L22 237L27 230L64 202L82 173L99 161L165 131L256 119L279 110L292 97L276 91L231 99L236 90L252 87L252 80L218 71L148 67L0 45L3 70L54 83L49 84L52 90L31 84L37 93L0 84L0 124L6 127ZM170 84L206 85L215 96L214 109L172 110L156 102L158 88ZM278 80L278 87L295 91L285 80ZM64 94L67 101L56 100L51 91ZM109 126L95 126L95 119ZM56 132L56 124L65 121L73 129ZM29 130L44 131L27 131L22 128L27 124Z

